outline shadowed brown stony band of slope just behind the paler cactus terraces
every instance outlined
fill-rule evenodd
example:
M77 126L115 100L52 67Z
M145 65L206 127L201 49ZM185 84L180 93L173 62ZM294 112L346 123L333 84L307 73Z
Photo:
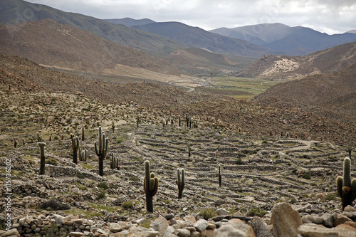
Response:
M198 90L187 93L172 86L152 83L101 83L48 70L19 57L0 57L0 85L4 91L10 85L11 92L64 91L114 104L129 102L130 105L159 109L175 117L187 113L199 122L199 127L220 127L221 132L224 128L241 130L258 137L269 136L271 131L273 136L288 132L291 137L356 145L355 125L300 108L281 110Z

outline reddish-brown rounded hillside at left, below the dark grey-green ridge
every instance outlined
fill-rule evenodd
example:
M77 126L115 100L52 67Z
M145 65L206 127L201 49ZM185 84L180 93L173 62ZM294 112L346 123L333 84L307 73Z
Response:
M49 19L13 26L0 24L0 53L29 58L43 65L98 73L122 64L180 74L166 60Z

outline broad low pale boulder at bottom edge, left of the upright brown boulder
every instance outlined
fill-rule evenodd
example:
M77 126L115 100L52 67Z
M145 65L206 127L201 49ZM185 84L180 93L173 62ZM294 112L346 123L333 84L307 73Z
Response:
M246 223L224 225L214 231L214 237L256 237L253 228Z

